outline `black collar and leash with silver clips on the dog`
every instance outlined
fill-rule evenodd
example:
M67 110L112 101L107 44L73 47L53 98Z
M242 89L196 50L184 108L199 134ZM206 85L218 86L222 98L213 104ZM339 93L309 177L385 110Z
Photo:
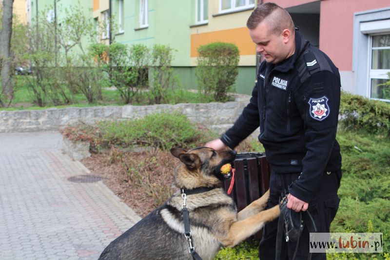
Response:
M192 190L187 190L187 189L181 189L181 198L183 198L184 203L181 205L181 214L183 214L183 222L184 222L184 237L188 241L188 251L192 255L192 258L194 260L202 260L202 258L196 253L195 247L193 245L193 240L192 240L192 235L190 231L190 216L188 212L188 207L187 207L187 195L193 195L193 194L198 194L198 193L203 193L207 191L211 191L215 189L215 187L199 187L195 188Z

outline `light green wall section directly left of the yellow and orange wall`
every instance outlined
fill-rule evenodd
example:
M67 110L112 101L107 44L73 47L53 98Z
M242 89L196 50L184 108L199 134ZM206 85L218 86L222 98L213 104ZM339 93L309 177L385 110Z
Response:
M174 66L190 65L190 25L193 12L191 1L148 1L147 28L139 29L139 0L124 1L124 32L115 41L124 44L164 44L175 49ZM113 0L112 15L118 17L117 0ZM177 8L173 8L173 7ZM116 18L114 18L116 19Z

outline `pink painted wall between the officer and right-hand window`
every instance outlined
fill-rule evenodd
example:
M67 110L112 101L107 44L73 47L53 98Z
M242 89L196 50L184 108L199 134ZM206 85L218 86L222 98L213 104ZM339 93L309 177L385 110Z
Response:
M264 0L288 8L315 0ZM259 1L260 2L260 1ZM352 70L353 14L390 6L389 0L321 0L319 47L340 70Z

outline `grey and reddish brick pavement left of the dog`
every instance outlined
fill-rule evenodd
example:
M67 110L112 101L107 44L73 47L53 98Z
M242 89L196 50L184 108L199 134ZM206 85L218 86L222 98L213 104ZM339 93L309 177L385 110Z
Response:
M98 259L139 217L78 161L58 132L0 134L0 259Z

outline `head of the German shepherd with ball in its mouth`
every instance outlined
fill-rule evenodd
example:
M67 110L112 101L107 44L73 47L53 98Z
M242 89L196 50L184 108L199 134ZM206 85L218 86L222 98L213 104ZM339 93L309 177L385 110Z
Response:
M172 148L171 154L182 162L176 168L176 184L187 188L215 186L220 180L229 179L232 172L222 174L221 167L226 163L233 163L236 156L235 151L217 152L208 147L189 151Z

